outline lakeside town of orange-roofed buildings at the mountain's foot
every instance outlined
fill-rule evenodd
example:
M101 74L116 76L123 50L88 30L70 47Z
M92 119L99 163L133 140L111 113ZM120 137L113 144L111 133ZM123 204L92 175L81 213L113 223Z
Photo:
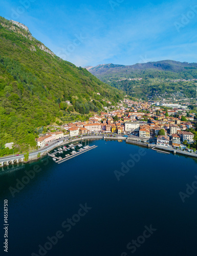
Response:
M61 138L90 134L110 134L135 136L143 142L157 145L185 147L194 142L196 113L191 113L187 106L164 108L155 102L133 101L125 98L113 106L113 110L94 114L87 121L63 124L61 131L48 132L37 139L38 147Z

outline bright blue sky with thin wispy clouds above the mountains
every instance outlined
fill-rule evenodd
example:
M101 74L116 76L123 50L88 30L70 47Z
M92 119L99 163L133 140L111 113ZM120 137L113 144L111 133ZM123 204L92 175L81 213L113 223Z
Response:
M76 66L197 62L195 1L1 0L0 15Z

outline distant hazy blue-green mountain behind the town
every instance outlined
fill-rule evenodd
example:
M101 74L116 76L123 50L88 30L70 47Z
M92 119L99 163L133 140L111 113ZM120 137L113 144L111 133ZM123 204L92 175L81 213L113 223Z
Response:
M93 75L128 95L143 99L160 97L187 98L196 96L197 63L163 60L132 66L98 65L87 67ZM133 78L142 80L129 80Z

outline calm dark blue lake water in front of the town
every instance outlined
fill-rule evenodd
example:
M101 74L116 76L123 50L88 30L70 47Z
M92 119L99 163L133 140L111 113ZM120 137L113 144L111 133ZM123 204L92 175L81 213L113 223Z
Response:
M190 191L184 203L179 193L186 193L186 184L196 180L197 161L142 151L125 142L93 144L98 147L62 164L46 158L0 172L0 254L196 256L197 189ZM140 149L139 159L135 154ZM131 159L129 154L137 162L128 162L134 166L125 167L118 181L114 172L121 172L121 163ZM13 197L10 187L16 188L17 181L27 176L25 171L33 168L41 170L23 189L12 190ZM7 254L3 248L5 199L9 204ZM78 211L85 204L89 208L80 210L80 217ZM65 221L72 217L76 222L71 220L69 226ZM145 226L153 230L144 233ZM59 237L53 238L54 245L47 238L53 236ZM135 240L137 245L132 245ZM39 245L47 250L39 253Z

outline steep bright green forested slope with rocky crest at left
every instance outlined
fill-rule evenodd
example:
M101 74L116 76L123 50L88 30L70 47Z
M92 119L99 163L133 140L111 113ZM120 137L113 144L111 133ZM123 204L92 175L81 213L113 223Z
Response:
M88 114L122 97L87 70L57 57L26 26L0 17L0 150L7 142L22 150L35 146L35 129L65 115L67 100L71 110Z

